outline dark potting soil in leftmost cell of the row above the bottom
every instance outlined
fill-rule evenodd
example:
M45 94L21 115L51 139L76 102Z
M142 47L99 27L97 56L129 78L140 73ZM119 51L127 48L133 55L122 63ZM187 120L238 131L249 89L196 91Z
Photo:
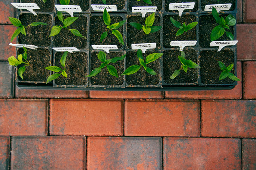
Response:
M52 28L52 17L46 14L21 14L19 16L21 23L28 26L32 22L44 22L48 25L29 26L26 29L26 35L19 34L18 42L20 44L36 45L48 47L51 45L50 32Z

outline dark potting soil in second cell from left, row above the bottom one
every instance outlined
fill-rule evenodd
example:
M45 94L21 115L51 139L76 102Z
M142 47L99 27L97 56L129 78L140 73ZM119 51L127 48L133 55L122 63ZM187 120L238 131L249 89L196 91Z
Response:
M70 17L69 15L63 16L64 19ZM87 17L83 15L74 16L79 17L75 22L73 22L68 29L77 29L80 34L84 37L75 36L68 29L62 29L59 34L54 36L54 46L55 47L77 47L79 49L86 48L87 46ZM63 26L62 22L55 17L55 26Z

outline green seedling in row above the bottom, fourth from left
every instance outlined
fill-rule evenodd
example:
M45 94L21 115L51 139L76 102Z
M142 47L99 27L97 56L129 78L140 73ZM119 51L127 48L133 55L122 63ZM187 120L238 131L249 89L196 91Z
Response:
M143 29L145 34L149 34L149 33L155 33L162 28L162 26L152 26L154 24L154 21L155 21L155 12L153 12L150 16L146 18L145 20L146 26L136 22L131 22L129 24L135 27L137 30Z

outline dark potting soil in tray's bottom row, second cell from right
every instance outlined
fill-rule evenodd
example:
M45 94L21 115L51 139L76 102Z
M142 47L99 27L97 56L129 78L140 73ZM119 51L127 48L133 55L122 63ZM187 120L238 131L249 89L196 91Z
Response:
M186 54L186 59L190 59L193 62L197 63L197 55L194 50L183 50ZM178 50L164 51L163 54L163 68L164 68L164 81L165 83L194 83L197 81L197 69L188 68L186 73L183 69L180 71L180 74L172 80L170 76L174 73L175 70L180 69L181 62L178 58L181 53Z

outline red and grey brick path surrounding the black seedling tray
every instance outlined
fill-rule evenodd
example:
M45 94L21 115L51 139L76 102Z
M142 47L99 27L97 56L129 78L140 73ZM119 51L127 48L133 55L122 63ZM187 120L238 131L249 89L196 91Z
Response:
M233 90L20 90L0 0L0 170L256 170L256 1L238 0ZM58 98L58 99L55 99Z

